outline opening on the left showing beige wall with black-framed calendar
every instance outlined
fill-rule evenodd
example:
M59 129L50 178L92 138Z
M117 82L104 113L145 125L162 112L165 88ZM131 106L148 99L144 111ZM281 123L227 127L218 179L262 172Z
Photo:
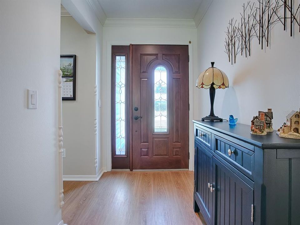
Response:
M87 32L63 6L61 11L65 12L60 19L63 180L94 180L100 165L96 143L96 35ZM63 55L72 55L73 60L65 60Z

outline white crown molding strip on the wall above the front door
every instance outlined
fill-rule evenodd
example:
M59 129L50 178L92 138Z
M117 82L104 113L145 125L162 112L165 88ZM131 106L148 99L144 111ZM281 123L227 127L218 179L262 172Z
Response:
M182 27L196 28L193 19L106 18L104 27Z

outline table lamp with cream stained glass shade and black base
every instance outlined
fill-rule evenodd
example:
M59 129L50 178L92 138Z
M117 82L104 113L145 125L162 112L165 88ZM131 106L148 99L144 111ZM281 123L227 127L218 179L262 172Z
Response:
M202 118L202 121L208 120L211 122L220 121L223 119L217 117L213 112L213 103L215 100L216 89L225 89L229 87L229 81L227 75L220 69L213 67L214 62L212 63L212 67L200 73L197 81L197 88L205 88L209 89L209 97L210 97L210 114L206 117Z

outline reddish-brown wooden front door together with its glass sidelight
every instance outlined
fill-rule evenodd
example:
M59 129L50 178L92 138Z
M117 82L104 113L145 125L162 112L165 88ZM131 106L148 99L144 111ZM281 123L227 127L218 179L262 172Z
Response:
M112 169L188 169L187 45L112 46Z

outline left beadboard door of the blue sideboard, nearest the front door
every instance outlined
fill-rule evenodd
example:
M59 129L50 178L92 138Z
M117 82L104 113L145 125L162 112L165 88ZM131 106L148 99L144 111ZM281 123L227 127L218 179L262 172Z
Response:
M212 193L209 191L208 183L212 183L212 154L206 147L195 142L195 196L202 208L202 214L212 224Z

